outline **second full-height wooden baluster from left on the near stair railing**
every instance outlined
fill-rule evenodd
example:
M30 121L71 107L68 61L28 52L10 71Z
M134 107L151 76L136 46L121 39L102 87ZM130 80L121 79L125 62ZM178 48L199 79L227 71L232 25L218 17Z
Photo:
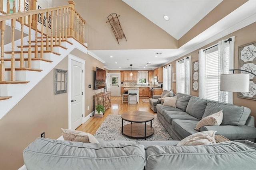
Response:
M15 81L15 58L14 58L14 31L16 20L12 19L12 58L11 58L11 81Z

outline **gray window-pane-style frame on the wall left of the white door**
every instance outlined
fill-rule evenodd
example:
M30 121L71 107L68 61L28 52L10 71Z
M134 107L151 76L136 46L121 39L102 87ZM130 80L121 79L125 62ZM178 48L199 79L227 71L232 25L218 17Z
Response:
M68 89L68 70L54 68L54 94L66 93Z

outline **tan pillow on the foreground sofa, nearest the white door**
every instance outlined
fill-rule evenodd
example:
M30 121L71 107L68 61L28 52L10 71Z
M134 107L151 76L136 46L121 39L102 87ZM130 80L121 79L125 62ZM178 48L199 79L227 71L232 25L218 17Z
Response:
M84 143L99 143L98 140L90 133L75 131L71 129L62 129L62 136L65 141L75 141Z

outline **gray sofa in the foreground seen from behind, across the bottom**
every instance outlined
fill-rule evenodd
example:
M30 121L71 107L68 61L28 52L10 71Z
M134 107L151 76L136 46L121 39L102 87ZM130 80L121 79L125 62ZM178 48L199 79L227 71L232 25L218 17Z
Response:
M24 149L23 158L28 170L249 170L256 167L256 144L250 141L176 146L178 142L81 143L38 138Z

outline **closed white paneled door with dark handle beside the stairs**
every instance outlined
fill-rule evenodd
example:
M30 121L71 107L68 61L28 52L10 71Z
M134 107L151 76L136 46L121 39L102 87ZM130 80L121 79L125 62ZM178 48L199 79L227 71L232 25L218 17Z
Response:
M82 63L71 60L71 129L82 124L82 68Z

